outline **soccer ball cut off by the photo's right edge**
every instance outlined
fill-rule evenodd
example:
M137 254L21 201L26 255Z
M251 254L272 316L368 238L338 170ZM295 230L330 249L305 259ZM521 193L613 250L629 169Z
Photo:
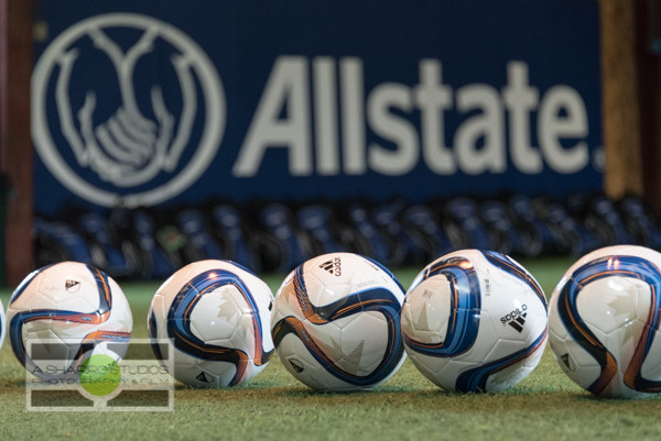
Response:
M600 397L661 392L661 254L607 246L579 258L550 302L551 350L565 374Z

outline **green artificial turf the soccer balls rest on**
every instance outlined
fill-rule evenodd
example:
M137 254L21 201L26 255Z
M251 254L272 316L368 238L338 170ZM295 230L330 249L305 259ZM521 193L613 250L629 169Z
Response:
M550 296L571 258L521 261ZM408 286L418 269L395 272ZM282 276L264 279L273 290ZM158 283L127 283L134 335ZM7 306L10 290L1 291ZM177 385L173 412L31 412L24 373L6 342L0 351L0 440L658 440L661 399L604 400L575 386L549 348L538 368L499 394L440 390L410 361L370 393L318 394L275 357L234 389Z

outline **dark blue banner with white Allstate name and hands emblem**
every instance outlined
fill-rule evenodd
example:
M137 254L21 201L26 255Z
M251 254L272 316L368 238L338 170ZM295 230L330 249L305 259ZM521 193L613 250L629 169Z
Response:
M596 0L39 2L35 210L602 188Z

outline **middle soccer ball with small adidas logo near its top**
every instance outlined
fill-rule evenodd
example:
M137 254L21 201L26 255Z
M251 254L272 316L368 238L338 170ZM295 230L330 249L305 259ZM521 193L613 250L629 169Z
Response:
M330 253L299 265L273 304L280 360L317 390L371 389L405 359L399 318L404 290L380 264Z

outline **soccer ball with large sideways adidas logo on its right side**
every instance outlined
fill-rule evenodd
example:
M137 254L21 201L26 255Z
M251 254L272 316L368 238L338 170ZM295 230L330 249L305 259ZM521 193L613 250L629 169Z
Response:
M530 374L548 337L546 299L507 255L463 250L429 264L402 307L409 357L446 390L499 392Z

